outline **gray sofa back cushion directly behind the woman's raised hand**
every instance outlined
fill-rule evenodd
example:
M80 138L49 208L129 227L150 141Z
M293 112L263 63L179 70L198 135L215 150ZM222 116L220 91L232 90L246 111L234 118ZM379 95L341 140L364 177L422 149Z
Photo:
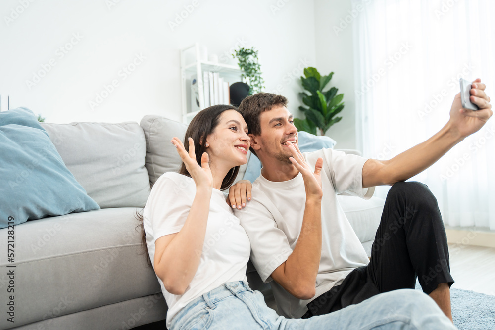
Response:
M149 182L153 185L166 172L178 172L182 164L173 137L184 141L187 125L158 115L147 115L141 119L146 137L146 168Z

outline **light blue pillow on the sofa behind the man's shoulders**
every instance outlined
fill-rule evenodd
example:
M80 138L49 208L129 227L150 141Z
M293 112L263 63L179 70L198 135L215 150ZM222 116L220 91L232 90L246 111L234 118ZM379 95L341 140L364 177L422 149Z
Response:
M333 148L337 143L334 139L327 136L316 136L304 131L298 132L298 145L301 152L311 152L320 150L323 148ZM247 163L246 173L244 174L244 180L254 182L261 174L261 162L258 157L251 155L249 162Z

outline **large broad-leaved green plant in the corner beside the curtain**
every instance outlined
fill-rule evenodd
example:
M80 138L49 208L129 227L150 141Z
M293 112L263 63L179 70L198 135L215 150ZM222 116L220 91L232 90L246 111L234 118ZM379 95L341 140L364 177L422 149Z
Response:
M316 135L316 129L321 135L325 135L333 124L339 122L342 117L336 115L344 109L344 94L337 94L338 89L332 87L324 91L332 79L333 72L328 76L321 76L318 70L309 67L304 69L304 76L301 77L302 87L309 92L299 93L302 96L302 103L306 107L300 106L299 110L306 115L305 119L294 119L299 131L305 131Z

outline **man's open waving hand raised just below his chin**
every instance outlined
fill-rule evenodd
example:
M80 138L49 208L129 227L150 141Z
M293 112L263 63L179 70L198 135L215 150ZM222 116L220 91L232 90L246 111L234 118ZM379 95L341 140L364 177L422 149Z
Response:
M323 158L318 158L314 166L314 172L309 167L308 163L304 160L299 146L297 144L289 144L289 148L292 152L292 157L289 160L297 170L302 174L304 179L304 188L306 189L306 200L308 198L321 199L323 197L323 190L321 189L321 169L323 167Z

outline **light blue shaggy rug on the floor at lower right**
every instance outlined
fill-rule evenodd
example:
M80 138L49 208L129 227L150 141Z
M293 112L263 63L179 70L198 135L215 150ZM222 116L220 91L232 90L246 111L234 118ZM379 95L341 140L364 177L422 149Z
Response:
M416 290L421 290L419 283ZM495 296L451 288L450 305L457 329L495 330Z

